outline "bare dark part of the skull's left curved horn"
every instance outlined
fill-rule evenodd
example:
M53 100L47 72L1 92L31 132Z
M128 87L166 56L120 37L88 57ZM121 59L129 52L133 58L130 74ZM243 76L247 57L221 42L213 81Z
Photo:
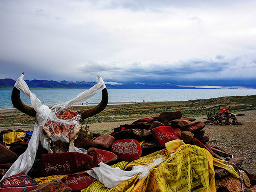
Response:
M16 87L13 87L12 89L12 105L19 111L35 117L35 109L32 107L29 107L28 105L25 105L21 99L20 99L20 90L18 90Z

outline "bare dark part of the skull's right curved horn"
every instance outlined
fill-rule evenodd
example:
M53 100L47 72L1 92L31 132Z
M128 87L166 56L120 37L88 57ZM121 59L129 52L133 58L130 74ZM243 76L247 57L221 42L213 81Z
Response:
M102 90L102 100L101 102L94 108L85 109L77 111L81 114L81 119L84 120L90 116L96 115L97 113L103 111L108 105L108 90L107 88L104 88Z

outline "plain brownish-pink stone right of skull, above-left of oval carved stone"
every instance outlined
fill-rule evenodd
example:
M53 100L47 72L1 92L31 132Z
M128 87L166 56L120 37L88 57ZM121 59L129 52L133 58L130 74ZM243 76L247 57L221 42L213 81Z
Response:
M100 135L91 144L92 147L108 149L115 142L115 137L111 135Z

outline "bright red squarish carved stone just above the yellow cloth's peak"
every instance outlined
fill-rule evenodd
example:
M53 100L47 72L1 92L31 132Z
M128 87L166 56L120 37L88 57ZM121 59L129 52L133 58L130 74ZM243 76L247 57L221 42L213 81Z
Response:
M179 140L179 137L175 134L174 130L170 126L160 126L152 129L157 145L160 148L165 147L165 143L172 140Z

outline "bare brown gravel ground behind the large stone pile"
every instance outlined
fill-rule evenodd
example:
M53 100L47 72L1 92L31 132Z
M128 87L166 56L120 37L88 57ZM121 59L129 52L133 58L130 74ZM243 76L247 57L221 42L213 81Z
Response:
M256 111L239 112L245 114L238 116L242 125L206 125L205 135L209 136L209 144L223 148L234 157L244 157L241 166L250 174L256 175ZM206 121L206 116L195 117L196 121ZM90 124L90 131L108 130L119 125L131 124L133 121L108 122Z

